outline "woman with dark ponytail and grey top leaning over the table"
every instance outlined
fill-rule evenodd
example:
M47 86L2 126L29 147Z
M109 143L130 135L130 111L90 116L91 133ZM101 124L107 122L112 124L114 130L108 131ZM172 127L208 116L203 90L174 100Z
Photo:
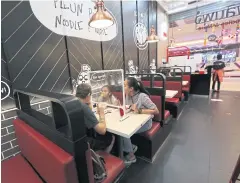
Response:
M131 109L137 114L159 114L158 108L149 98L149 93L145 90L142 83L136 78L129 77L124 81L124 90L126 94L126 105L131 105ZM145 132L152 127L152 119L140 128L137 133ZM131 139L123 138L123 150L128 153L125 156L125 163L135 163L134 153L137 147L133 146Z

